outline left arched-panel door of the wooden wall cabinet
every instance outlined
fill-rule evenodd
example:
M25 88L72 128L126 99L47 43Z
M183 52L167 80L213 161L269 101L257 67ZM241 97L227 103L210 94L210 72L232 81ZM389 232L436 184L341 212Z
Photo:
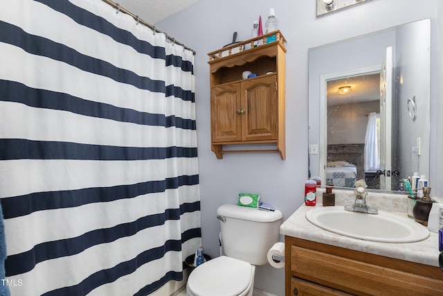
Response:
M213 142L241 141L240 84L211 89L210 125Z

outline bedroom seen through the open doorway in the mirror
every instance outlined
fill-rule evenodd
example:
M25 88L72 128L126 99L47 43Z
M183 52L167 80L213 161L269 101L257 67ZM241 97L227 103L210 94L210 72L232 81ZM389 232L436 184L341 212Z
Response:
M327 80L326 184L380 189L380 73Z

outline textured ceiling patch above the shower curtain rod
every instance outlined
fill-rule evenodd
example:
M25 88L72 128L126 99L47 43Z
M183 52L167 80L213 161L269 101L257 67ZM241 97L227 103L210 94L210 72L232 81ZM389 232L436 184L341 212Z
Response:
M154 25L156 22L186 9L200 0L113 0L121 7L138 15L143 21Z

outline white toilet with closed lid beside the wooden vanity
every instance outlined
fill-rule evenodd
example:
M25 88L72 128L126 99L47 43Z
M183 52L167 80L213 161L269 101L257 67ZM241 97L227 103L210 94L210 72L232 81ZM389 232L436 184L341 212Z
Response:
M268 263L267 253L278 242L282 213L237 204L217 209L224 256L199 265L186 285L187 296L251 296L255 265Z

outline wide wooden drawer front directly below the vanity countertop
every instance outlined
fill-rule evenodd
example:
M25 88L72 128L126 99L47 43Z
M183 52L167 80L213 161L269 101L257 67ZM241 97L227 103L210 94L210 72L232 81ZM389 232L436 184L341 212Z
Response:
M443 281L291 245L291 274L355 295L443 295Z

